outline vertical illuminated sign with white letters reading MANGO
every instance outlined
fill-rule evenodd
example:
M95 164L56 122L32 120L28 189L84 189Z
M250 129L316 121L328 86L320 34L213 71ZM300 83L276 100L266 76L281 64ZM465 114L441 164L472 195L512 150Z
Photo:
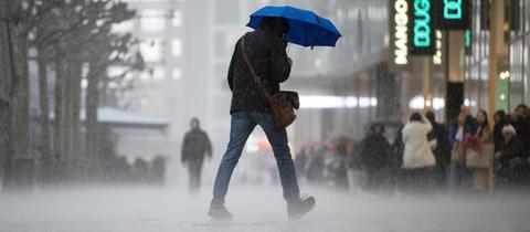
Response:
M407 23L409 15L409 3L406 0L396 0L394 3L394 63L395 64L407 64Z

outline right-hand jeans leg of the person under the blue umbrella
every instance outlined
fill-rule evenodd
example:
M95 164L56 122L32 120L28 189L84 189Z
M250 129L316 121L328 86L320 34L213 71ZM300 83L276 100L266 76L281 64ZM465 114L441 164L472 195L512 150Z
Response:
M271 146L273 147L274 157L279 171L279 180L284 189L284 199L290 202L300 200L300 190L296 179L295 164L290 156L290 149L287 145L287 131L275 125L272 114L255 113L254 119L265 131Z

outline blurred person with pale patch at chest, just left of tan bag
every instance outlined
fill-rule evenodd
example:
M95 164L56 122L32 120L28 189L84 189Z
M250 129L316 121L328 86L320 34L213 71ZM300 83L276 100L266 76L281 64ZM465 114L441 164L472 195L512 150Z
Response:
M449 126L448 140L452 148L449 175L447 177L449 192L460 190L468 181L464 138L466 135L473 134L471 127L470 124L466 124L466 114L464 112L460 112L456 120Z

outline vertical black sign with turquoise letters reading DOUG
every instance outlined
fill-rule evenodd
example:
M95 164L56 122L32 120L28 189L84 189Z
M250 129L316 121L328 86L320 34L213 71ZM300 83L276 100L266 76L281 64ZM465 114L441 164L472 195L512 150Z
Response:
M432 0L409 0L409 53L411 55L434 55L435 30Z

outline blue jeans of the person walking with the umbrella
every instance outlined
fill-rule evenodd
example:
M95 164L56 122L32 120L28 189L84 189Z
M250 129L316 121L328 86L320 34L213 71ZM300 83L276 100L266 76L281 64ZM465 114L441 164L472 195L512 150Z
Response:
M295 165L290 157L290 149L287 146L287 131L285 128L275 125L271 113L234 112L232 113L229 146L219 165L218 176L213 186L214 202L224 203L232 172L240 160L246 139L256 125L263 128L273 147L282 188L284 189L284 199L287 202L296 202L300 199Z

